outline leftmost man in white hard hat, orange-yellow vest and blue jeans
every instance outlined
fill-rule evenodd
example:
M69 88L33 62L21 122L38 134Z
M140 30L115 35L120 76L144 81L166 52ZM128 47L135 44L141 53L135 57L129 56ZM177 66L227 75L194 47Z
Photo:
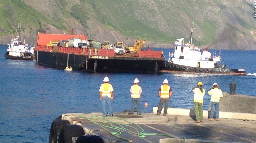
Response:
M113 116L112 107L111 107L111 101L113 100L113 87L109 83L109 78L106 76L103 80L103 84L100 85L100 100L103 105L103 116L106 117L107 113L109 113L109 116ZM108 110L106 110L106 105L108 107ZM109 111L109 112L107 112Z

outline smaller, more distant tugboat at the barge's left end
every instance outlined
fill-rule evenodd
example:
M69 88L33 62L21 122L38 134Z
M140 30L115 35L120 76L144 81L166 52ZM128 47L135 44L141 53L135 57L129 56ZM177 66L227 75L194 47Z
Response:
M20 23L17 31L18 33L21 31ZM7 52L5 53L5 57L14 60L35 60L35 46L25 44L26 35L23 42L19 38L20 36L12 38L11 44L9 44Z

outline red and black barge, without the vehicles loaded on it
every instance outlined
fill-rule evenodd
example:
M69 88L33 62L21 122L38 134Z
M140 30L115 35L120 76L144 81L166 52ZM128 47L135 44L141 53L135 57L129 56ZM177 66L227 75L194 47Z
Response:
M37 64L60 70L70 65L73 70L82 71L148 73L161 70L165 61L161 51L139 50L136 54L117 55L114 49L71 46L68 40L71 38L86 41L85 35L38 33L34 49ZM58 44L51 44L51 41L58 41Z

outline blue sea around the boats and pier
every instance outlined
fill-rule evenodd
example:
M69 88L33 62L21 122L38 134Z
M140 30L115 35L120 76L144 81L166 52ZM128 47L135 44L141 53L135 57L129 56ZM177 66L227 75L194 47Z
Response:
M158 89L164 79L168 79L173 90L169 107L193 108L193 93L190 91L199 81L204 83L206 91L213 83L218 83L223 92L230 92L229 83L235 82L237 94L256 96L256 51L221 51L222 62L227 68L245 68L248 73L245 76L234 76L66 72L39 66L36 61L6 59L6 49L6 45L0 45L1 143L45 143L49 139L51 123L59 115L102 112L99 87L105 76L109 77L114 88L114 112L130 109L129 90L134 78L139 79L143 90L142 114L152 113L152 107L158 106ZM173 49L167 48L155 50L163 50L166 60L168 52L173 52ZM145 102L148 107L143 106ZM206 94L204 110L208 108L209 102L210 96Z

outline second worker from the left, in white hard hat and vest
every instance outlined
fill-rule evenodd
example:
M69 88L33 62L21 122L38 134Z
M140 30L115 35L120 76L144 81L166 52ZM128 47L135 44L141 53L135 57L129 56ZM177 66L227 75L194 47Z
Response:
M133 115L134 106L135 103L137 105L137 115L141 115L140 112L140 95L142 93L142 89L139 86L139 80L137 78L134 79L134 85L131 86L130 92L131 92L131 98L132 98L132 107L130 110L130 113L128 115Z

